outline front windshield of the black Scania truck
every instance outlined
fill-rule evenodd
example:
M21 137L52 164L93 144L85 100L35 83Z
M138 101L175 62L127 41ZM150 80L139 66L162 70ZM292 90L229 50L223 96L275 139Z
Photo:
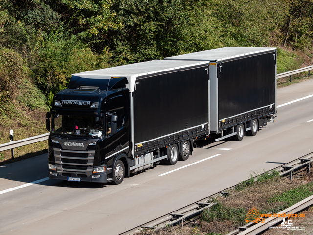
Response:
M103 118L91 116L52 116L51 133L56 135L102 136Z

